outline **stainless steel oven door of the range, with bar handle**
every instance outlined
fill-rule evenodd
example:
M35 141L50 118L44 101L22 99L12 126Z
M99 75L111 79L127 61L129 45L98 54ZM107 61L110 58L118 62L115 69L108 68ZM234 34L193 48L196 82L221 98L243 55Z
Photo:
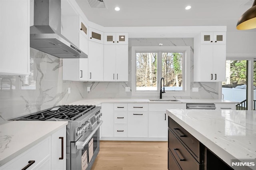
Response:
M103 121L88 135L82 135L76 142L71 142L71 159L69 170L90 170L98 152L100 151L100 126Z

